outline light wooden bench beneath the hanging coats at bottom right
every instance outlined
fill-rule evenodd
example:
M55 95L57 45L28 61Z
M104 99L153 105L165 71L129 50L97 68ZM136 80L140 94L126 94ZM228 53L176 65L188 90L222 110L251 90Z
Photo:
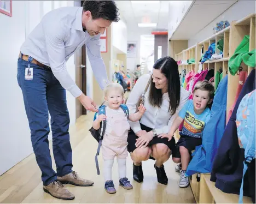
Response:
M219 190L210 177L210 174L201 173L199 203L238 203L239 195ZM243 203L252 203L251 197L243 196Z

